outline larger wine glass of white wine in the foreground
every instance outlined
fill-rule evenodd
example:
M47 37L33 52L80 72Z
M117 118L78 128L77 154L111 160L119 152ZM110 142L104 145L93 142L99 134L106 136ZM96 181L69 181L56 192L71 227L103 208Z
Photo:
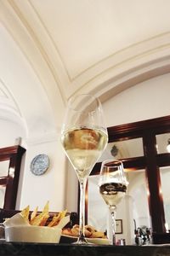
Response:
M86 183L107 141L108 134L99 99L88 94L71 97L61 130L61 143L80 184L78 244L88 243L84 235Z

